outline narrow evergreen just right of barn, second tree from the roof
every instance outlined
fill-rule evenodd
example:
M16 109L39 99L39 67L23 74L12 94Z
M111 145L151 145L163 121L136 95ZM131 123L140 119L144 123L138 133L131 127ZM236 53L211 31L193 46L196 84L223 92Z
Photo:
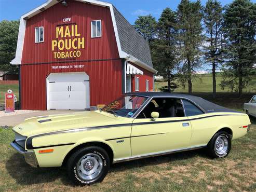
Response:
M154 44L155 68L159 75L167 79L167 87L162 91L170 92L177 88L173 83L175 76L172 75L173 69L177 65L177 19L176 13L170 8L166 8L161 13L157 23L158 39Z

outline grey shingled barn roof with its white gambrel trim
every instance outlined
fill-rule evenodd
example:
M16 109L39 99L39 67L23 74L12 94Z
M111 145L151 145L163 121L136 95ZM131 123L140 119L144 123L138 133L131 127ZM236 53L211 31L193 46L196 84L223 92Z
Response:
M109 7L113 22L116 43L120 58L124 58L133 62L146 70L153 73L157 71L153 68L150 48L147 41L133 28L133 26L122 16L122 14L110 3L96 0L75 0L82 3L90 3L93 5ZM11 64L21 64L22 50L25 36L26 20L37 15L38 13L50 8L51 6L61 2L61 0L48 0L43 5L33 9L20 18L19 35L17 42L16 57Z

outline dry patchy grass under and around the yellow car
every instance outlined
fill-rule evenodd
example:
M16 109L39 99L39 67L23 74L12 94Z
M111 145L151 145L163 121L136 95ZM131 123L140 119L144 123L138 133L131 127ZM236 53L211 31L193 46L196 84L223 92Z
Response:
M241 103L228 93L216 102L235 109ZM233 141L226 158L211 159L199 149L117 163L103 182L86 187L74 186L64 168L28 166L9 146L14 133L0 128L0 191L255 191L256 119L251 122L250 132Z

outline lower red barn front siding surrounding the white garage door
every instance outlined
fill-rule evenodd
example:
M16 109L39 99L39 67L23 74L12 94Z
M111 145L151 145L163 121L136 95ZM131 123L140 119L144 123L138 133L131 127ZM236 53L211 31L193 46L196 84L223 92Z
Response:
M90 105L107 104L122 94L121 60L78 62L83 68L52 70L51 66L65 64L21 65L22 109L45 110L46 77L50 73L85 72L90 77ZM72 64L73 65L73 64Z

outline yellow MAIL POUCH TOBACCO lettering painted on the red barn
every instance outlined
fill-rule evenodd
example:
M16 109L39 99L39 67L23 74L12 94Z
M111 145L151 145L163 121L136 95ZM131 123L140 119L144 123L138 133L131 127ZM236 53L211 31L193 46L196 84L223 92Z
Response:
M51 50L56 59L74 59L81 56L80 49L85 48L85 38L80 37L77 25L56 27L55 40L51 41Z

